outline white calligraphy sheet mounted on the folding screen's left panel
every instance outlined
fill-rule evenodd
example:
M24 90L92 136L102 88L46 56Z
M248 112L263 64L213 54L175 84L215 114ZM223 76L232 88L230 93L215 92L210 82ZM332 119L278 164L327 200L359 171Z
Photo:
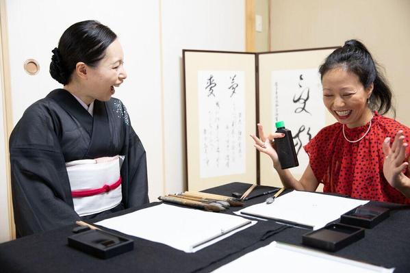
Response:
M243 71L199 71L201 178L245 172Z

